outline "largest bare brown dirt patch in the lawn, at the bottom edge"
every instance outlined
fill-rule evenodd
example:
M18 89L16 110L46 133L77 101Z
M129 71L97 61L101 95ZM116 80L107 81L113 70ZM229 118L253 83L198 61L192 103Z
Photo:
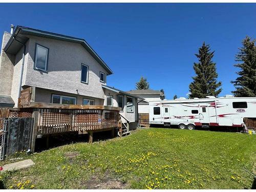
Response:
M112 179L108 174L102 178L92 176L88 181L83 183L88 189L124 189L126 184L118 179Z

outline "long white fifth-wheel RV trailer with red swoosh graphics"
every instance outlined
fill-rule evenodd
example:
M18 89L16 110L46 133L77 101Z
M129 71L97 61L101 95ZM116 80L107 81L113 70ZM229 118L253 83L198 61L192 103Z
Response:
M243 118L256 118L256 97L225 97L151 101L150 124L178 125L180 129L195 126L244 126Z

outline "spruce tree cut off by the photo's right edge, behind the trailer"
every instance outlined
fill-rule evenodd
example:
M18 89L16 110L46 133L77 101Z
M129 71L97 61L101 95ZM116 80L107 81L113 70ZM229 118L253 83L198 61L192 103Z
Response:
M255 40L246 36L242 40L243 47L239 48L234 67L240 68L238 78L231 83L236 88L232 91L236 97L256 97L256 47Z

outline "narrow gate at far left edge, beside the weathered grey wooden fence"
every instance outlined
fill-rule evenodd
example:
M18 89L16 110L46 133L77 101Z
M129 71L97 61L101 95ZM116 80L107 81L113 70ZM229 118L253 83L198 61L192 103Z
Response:
M2 126L0 129L0 160L4 160L6 154L6 134L7 134L7 127L8 127L8 120L7 119L0 119L0 125Z

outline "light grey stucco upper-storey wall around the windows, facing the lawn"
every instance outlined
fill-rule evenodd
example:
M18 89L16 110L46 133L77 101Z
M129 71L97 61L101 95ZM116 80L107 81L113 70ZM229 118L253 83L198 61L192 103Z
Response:
M28 36L28 60L25 66L25 84L70 94L104 99L99 73L106 71L80 44ZM34 69L35 45L49 48L48 70ZM81 82L81 63L89 67L88 83ZM76 91L77 90L77 91Z

